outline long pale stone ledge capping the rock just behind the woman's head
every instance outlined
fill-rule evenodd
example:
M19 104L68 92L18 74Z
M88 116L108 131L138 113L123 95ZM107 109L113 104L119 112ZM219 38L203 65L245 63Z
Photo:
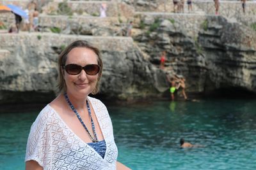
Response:
M77 36L77 35L65 35L65 34L53 34L49 32L22 32L19 34L9 34L9 33L1 33L0 36L0 49L9 50L13 52L15 48L22 48L24 43L26 46L40 46L41 43L48 42L51 46L65 46L68 45L72 41L76 41L77 39L86 40L93 45L96 45L100 50L104 51L132 51L133 47L133 39L129 37L122 36ZM38 48L39 49L39 48ZM24 50L22 48L22 50ZM44 50L44 49L41 49ZM45 53L44 51L42 51Z

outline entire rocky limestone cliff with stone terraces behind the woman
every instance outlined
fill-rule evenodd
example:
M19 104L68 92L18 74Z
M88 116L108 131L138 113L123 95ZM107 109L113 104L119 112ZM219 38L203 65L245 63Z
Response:
M49 6L58 6L56 2L59 1L42 9L49 11ZM73 10L77 3L69 1ZM42 32L1 33L0 104L51 101L56 95L58 53L76 39L89 41L102 50L104 70L99 96L105 99L169 97L166 73L184 76L189 94L218 89L243 89L255 94L255 18L244 24L233 15L209 15L207 12L211 14L212 10L204 10L204 4L209 3L200 1L193 9L202 10L192 13L163 12L172 11L164 0L108 3L115 9L109 11L111 17L44 14L40 15ZM147 12L147 6L152 11ZM237 9L237 4L232 6ZM93 7L90 13L95 13L93 9L97 10ZM234 11L229 9L230 13ZM253 9L243 17L252 18L250 13ZM120 31L131 16L132 37L122 37ZM60 32L53 33L52 28ZM161 70L159 58L163 50L167 61Z

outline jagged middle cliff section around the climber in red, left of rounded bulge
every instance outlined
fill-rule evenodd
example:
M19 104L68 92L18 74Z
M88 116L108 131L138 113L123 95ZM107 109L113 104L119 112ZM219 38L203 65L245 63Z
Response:
M149 20L148 20L149 21ZM166 51L166 68L170 74L182 74L189 92L204 92L207 67L205 57L196 42L178 22L159 18L148 22L146 33L138 35L138 46L150 56L150 62L159 64L161 52ZM158 25L154 29L153 25Z

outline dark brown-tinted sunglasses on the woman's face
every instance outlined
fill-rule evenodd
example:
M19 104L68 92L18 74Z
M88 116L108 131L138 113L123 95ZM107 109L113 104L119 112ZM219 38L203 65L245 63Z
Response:
M63 66L63 68L68 74L71 75L77 75L81 73L82 70L84 70L86 74L93 76L98 74L100 71L100 66L97 64L89 64L84 67L77 64L67 64L66 66Z

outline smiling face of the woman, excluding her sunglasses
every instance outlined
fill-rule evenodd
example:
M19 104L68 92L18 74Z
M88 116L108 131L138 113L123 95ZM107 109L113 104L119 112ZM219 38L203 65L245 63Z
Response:
M86 47L76 47L68 53L65 66L67 64L77 64L84 67L88 64L98 64L97 59L98 57L93 50ZM70 75L64 71L63 77L67 85L68 94L84 97L88 96L95 89L98 74L88 75L82 70L77 75Z

